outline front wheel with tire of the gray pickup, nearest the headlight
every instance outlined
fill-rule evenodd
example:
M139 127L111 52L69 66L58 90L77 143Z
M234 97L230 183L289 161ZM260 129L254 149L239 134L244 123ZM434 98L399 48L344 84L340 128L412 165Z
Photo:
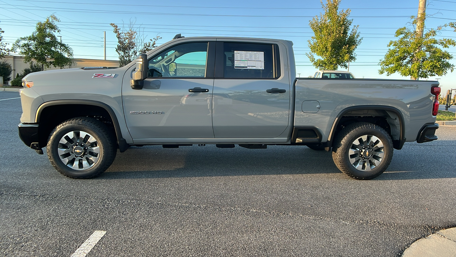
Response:
M47 142L52 166L67 177L92 178L111 166L117 153L112 129L90 117L59 124Z

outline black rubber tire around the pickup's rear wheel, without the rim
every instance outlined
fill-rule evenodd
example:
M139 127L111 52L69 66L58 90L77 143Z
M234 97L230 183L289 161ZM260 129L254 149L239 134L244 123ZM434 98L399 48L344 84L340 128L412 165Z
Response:
M354 166L357 162L352 164L352 162L350 161L358 157L350 157L356 155L349 155L350 148L358 149L357 146L353 144L355 140L365 135L375 136L381 141L381 143L383 143L383 158L381 158L379 164L374 168L371 169L372 166L369 165L368 168L371 169L369 171L358 170ZM361 148L361 150L363 149ZM378 177L380 174L383 173L383 171L385 171L388 168L393 158L393 150L393 141L388 132L386 132L383 128L379 127L378 125L367 122L358 122L347 125L347 127L342 129L337 134L334 140L334 145L332 146L332 160L334 161L334 164L336 164L337 168L339 168L339 170L341 170L343 173L347 174L348 177L359 180L367 180L372 179L374 177ZM361 153L360 156L364 157L364 155L362 155ZM374 156L371 155L371 158L372 157ZM378 158L378 156L375 157ZM373 161L373 159L371 160ZM368 160L366 158L366 160L362 159L360 161L362 162ZM362 165L358 167L363 168L364 166L367 165Z

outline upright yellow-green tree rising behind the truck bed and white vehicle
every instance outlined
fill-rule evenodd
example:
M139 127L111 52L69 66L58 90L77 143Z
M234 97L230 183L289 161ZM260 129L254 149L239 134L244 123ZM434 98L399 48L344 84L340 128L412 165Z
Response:
M356 60L355 49L363 39L358 33L358 25L350 29L353 22L348 19L350 9L339 11L340 0L327 0L326 5L320 2L325 13L309 21L315 36L308 41L311 52L306 55L321 70L347 68L348 62ZM316 59L314 54L321 58Z

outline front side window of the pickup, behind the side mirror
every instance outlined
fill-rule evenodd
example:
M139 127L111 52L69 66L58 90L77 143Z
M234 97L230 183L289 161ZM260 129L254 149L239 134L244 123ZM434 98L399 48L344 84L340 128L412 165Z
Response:
M166 49L149 60L150 78L206 75L207 43L184 43Z

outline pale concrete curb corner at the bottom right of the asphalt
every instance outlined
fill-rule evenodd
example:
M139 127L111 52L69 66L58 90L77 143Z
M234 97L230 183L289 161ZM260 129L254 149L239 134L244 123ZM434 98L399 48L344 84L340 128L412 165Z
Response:
M402 257L455 257L456 228L440 230L405 249Z

